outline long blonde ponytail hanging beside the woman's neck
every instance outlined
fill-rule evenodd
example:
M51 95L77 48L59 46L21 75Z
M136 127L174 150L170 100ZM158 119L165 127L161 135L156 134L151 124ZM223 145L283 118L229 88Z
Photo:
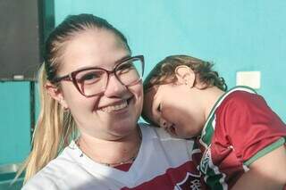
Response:
M64 111L63 106L47 94L46 82L43 64L38 74L40 112L32 138L32 150L17 175L25 169L24 183L55 159L77 134L71 112Z

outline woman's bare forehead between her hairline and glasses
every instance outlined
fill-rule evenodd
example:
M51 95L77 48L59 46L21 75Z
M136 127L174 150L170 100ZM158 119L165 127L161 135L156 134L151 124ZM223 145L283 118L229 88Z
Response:
M79 70L86 67L114 68L116 61L129 51L113 32L106 29L89 29L71 38L63 53L62 70Z

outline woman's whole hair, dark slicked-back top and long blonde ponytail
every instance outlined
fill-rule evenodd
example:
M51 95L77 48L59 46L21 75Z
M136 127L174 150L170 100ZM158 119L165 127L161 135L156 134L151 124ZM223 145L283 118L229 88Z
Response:
M47 94L45 85L49 81L60 88L60 84L55 83L54 79L62 64L64 49L73 37L88 29L105 29L114 33L130 51L127 39L118 29L92 14L68 16L49 35L44 51L45 63L38 74L40 112L33 134L32 150L17 174L18 178L23 170L26 171L24 183L49 161L55 159L58 153L69 145L71 139L77 136L78 131L71 112L65 111L60 103Z

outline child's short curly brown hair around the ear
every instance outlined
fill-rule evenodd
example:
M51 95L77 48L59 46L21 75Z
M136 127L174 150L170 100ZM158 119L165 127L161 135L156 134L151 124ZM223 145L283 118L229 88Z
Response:
M214 66L211 62L205 62L198 58L188 55L172 55L158 62L153 70L147 75L144 80L144 92L156 85L164 85L177 81L175 69L180 65L186 65L196 74L196 80L203 83L206 87L218 87L223 91L227 90L227 86L222 77L212 70Z

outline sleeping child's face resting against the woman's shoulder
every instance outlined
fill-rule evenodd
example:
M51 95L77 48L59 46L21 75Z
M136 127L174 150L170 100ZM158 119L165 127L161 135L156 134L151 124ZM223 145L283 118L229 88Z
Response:
M205 118L193 97L189 87L183 84L152 87L144 95L143 112L172 136L198 136Z

